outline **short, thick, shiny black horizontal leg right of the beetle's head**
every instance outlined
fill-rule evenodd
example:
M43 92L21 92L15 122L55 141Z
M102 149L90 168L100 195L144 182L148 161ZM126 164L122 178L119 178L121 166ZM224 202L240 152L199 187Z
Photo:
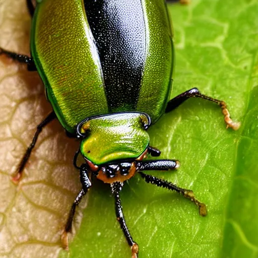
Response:
M176 169L180 166L178 160L147 160L147 161L136 161L137 171L142 170L171 170Z

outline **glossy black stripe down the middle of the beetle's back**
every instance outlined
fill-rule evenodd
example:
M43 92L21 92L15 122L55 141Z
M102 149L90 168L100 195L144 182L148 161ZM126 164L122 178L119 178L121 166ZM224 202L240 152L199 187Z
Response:
M141 0L84 0L111 112L136 110L145 63Z

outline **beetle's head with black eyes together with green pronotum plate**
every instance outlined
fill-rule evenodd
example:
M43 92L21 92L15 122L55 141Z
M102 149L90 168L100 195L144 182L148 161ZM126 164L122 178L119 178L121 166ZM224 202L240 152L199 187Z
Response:
M145 113L123 112L90 117L77 125L81 154L100 180L124 181L135 174L135 161L147 154L150 123Z

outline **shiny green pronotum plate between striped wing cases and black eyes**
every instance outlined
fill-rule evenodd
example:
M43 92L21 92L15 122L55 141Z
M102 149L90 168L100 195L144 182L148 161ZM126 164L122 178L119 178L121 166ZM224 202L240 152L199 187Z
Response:
M81 153L98 166L136 159L149 146L146 123L148 119L141 113L116 113L90 119L83 124L88 133L81 143Z

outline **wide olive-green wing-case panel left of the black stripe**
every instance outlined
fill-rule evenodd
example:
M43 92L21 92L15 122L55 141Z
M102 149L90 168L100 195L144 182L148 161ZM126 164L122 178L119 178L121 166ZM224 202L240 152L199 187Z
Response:
M43 0L37 5L31 53L47 97L62 126L108 113L100 61L81 1Z

